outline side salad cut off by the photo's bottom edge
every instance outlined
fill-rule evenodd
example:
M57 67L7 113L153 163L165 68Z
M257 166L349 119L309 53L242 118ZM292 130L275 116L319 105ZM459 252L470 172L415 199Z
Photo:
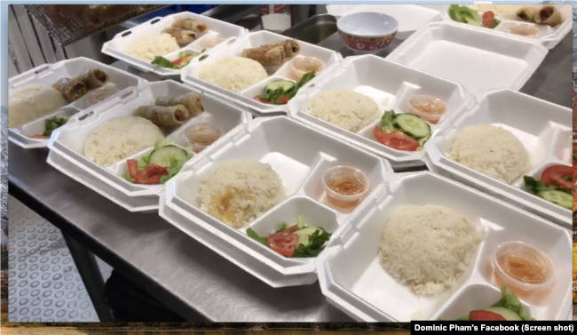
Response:
M462 315L455 321L534 321L529 316L525 307L515 293L507 286L501 286L502 298L495 302L493 306L484 309L470 311L468 315ZM439 319L440 320L440 319Z

